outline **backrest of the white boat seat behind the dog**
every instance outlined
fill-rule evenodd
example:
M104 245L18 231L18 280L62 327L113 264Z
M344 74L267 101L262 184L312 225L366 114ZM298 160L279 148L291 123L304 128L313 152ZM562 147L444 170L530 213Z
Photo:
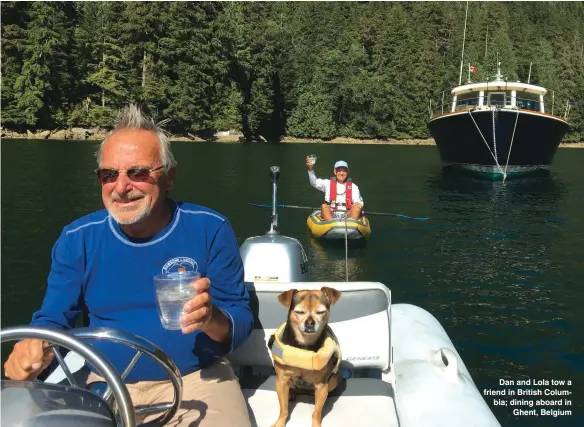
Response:
M341 345L341 368L391 369L391 294L376 282L246 283L254 314L249 338L229 355L235 366L273 367L268 349L270 335L286 321L288 309L278 295L288 289L335 288L343 293L332 307L329 326Z

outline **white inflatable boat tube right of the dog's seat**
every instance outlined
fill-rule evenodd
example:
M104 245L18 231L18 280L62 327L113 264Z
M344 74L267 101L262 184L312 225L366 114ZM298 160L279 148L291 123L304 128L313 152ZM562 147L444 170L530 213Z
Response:
M434 316L394 304L391 323L400 426L500 426Z

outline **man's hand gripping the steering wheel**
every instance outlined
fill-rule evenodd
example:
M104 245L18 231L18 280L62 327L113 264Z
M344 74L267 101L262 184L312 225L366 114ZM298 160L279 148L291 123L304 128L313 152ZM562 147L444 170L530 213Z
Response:
M4 373L12 380L35 380L55 357L53 350L46 351L50 344L39 339L25 339L14 346L4 363Z

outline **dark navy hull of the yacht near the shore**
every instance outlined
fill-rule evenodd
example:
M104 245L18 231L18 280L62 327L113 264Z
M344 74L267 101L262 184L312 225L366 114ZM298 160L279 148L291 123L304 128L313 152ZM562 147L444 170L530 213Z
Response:
M535 111L484 109L437 116L428 128L444 167L500 179L548 171L569 125Z

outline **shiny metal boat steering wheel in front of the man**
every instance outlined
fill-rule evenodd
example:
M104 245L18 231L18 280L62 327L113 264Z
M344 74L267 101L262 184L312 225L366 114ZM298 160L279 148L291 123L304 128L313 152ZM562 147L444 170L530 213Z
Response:
M119 412L119 419L123 427L136 427L136 415L161 411L165 412L155 420L149 421L145 424L140 424L139 427L164 426L172 419L179 408L182 400L183 387L182 378L178 368L166 353L142 337L112 328L75 328L65 332L43 326L16 326L5 328L0 331L0 342L2 343L25 338L40 339L51 344L51 348L55 353L55 358L59 362L59 366L65 373L65 376L72 387L83 388L77 384L77 381L73 378L67 363L58 351L58 346L78 353L87 363L90 363L95 367L107 384L107 389L102 397L112 408L114 403L113 400L115 400ZM95 347L83 342L84 340L105 340L116 342L133 348L136 350L136 354L128 366L123 370L122 374L119 375L113 364L109 362ZM146 408L134 408L128 389L124 384L124 379L130 373L143 353L157 362L168 375L174 388L174 398L172 403Z

